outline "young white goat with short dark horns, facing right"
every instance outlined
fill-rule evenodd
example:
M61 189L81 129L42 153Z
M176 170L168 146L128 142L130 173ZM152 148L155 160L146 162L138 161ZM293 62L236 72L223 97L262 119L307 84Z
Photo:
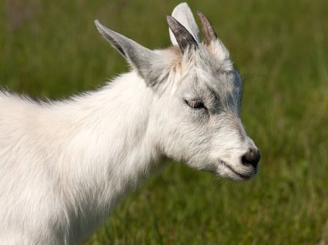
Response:
M166 159L234 180L256 174L242 80L197 14L204 43L181 3L167 17L173 46L154 51L96 21L133 66L98 91L49 103L1 93L0 244L81 242Z

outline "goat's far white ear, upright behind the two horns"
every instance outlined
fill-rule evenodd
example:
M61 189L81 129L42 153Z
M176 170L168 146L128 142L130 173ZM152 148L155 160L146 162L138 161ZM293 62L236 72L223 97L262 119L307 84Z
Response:
M188 3L178 4L178 6L173 9L172 17L178 20L178 22L180 22L181 25L185 27L185 29L188 29L188 31L190 32L190 34L192 34L195 40L200 43L199 29L197 27L194 15L192 15L192 12L188 6ZM174 36L171 29L169 29L169 34L172 44L178 45L176 37Z

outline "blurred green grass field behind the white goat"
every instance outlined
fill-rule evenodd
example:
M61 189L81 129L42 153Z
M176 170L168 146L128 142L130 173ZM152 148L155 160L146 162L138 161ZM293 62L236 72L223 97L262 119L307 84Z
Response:
M169 45L178 1L0 2L0 85L54 99L127 71L98 18L148 48ZM261 148L232 183L171 163L86 244L328 244L328 1L188 1L244 77L242 119Z

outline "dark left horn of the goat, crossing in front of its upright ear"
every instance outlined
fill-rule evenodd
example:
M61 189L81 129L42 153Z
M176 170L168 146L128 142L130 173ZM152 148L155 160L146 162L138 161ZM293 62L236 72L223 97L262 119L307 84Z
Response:
M178 20L176 20L170 15L166 16L166 20L169 24L171 31L173 32L173 35L176 37L176 41L178 42L178 45L182 52L184 52L188 46L195 48L198 46L198 43L192 36L192 34L190 34L188 29L181 25Z

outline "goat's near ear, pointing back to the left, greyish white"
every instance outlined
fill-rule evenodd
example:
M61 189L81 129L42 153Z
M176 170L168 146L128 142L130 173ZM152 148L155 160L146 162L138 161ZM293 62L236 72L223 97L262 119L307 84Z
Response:
M159 72L156 72L156 68L153 67L154 61L158 59L156 52L108 29L101 25L98 20L95 20L95 24L100 34L103 34L106 40L138 71L139 75L145 79L147 85L152 86L157 83L158 77L156 77L156 74Z

